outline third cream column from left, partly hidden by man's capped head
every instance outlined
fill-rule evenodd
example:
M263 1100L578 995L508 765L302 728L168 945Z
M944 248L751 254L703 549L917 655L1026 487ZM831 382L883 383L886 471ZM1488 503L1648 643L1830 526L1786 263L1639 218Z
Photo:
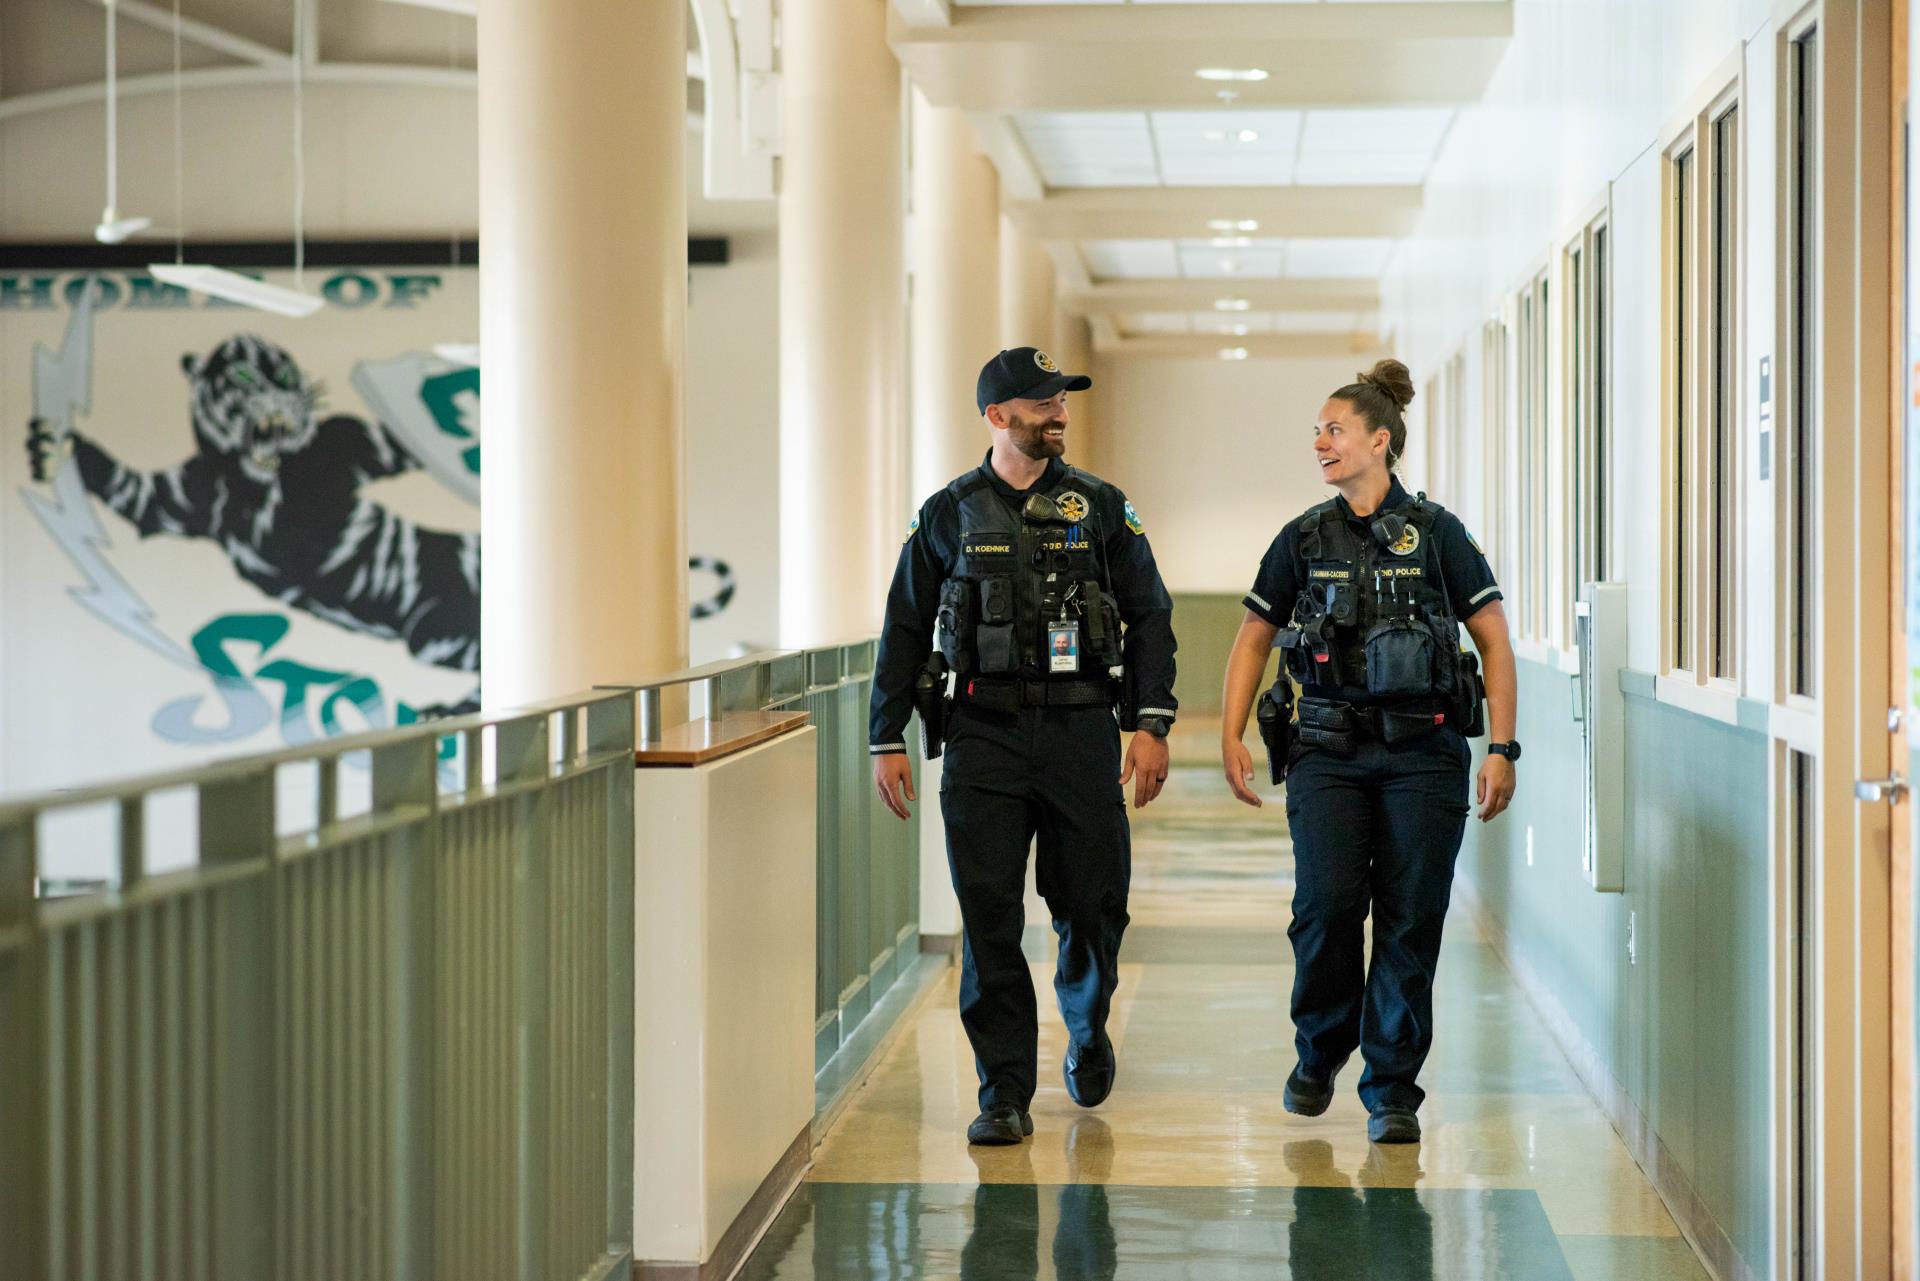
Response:
M912 484L918 507L991 444L973 407L1000 350L1000 175L960 111L914 92Z

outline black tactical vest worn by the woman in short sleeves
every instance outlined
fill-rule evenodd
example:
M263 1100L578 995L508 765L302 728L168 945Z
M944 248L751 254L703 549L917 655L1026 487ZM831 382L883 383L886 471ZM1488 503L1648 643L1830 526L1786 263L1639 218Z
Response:
M1338 499L1300 524L1308 576L1284 636L1288 674L1306 693L1365 691L1367 701L1452 695L1459 680L1459 620L1448 601L1425 495L1375 513L1371 536Z

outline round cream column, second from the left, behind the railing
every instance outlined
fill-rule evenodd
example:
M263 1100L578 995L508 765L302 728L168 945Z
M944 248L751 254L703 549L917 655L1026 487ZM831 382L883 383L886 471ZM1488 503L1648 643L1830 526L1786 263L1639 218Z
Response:
M780 643L879 628L904 530L906 165L885 0L781 12Z

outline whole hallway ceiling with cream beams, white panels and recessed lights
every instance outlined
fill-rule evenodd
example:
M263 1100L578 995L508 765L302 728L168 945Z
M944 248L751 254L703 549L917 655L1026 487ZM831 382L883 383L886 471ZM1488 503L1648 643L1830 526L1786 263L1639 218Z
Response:
M1377 344L1379 282L1513 33L1509 0L891 6L1066 307L1137 353Z

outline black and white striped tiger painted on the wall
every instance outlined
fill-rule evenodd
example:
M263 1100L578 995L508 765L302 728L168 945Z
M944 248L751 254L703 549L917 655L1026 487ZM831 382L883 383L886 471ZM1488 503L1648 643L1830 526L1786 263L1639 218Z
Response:
M420 528L361 488L420 461L394 432L323 417L324 390L255 334L184 355L198 451L136 472L79 432L35 419L27 455L48 480L71 455L86 492L138 530L221 544L275 601L420 663L480 670L480 536Z

